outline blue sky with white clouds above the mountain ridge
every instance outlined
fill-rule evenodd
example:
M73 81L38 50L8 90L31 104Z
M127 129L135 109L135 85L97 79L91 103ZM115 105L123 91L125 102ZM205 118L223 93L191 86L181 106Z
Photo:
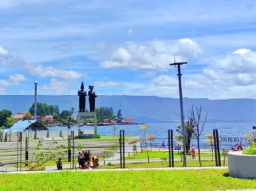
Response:
M256 2L1 0L0 95L256 97Z

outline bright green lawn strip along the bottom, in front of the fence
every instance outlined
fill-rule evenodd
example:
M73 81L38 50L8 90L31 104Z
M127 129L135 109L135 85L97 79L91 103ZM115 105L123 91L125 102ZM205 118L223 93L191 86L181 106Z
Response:
M225 173L226 169L1 174L0 190L169 191L256 188L256 180L225 177Z

